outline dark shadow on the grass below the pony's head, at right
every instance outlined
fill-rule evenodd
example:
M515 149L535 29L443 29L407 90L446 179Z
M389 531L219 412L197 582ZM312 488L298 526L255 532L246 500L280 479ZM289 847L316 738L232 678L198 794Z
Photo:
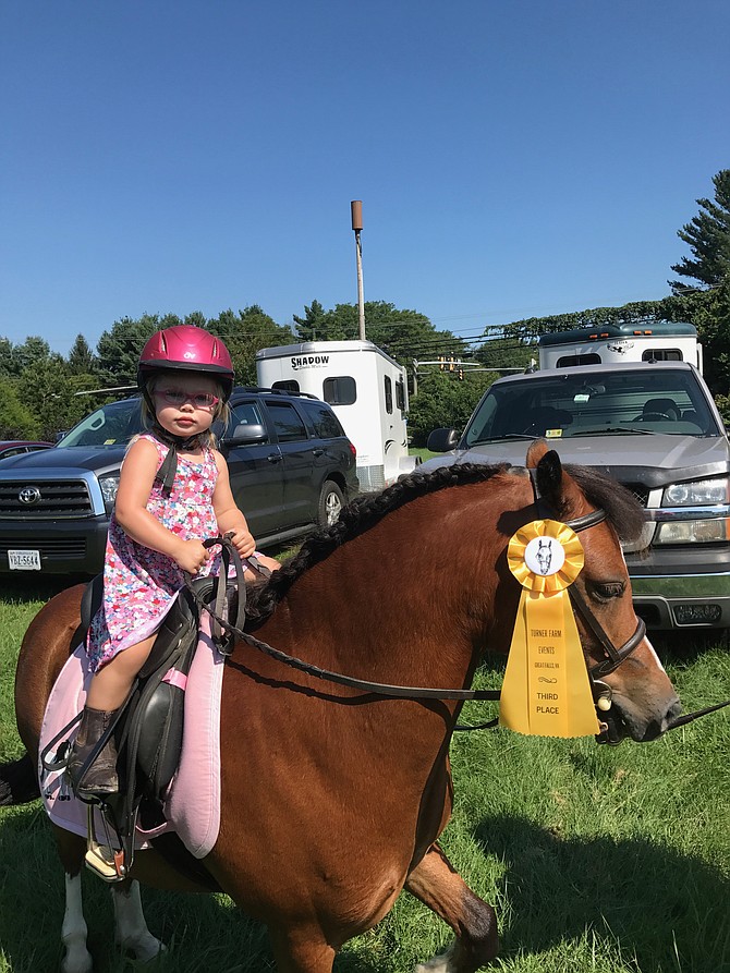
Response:
M643 839L564 840L525 818L485 818L475 837L507 866L503 959L595 932L642 973L730 971L730 879L706 862Z

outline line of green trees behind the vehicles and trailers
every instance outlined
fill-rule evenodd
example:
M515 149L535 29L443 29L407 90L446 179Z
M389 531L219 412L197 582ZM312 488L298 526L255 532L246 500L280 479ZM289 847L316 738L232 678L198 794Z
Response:
M671 270L671 293L657 301L596 307L571 314L528 318L485 333L477 341L437 330L423 314L386 301L365 303L367 339L409 367L417 385L409 416L414 446L425 445L437 426L462 427L482 392L506 368L525 368L536 357L536 340L548 331L619 321L690 321L705 349L705 378L730 422L730 169L714 178L715 198L697 199L698 214L678 231L691 257ZM255 355L261 348L304 341L358 337L355 304L325 308L319 301L277 324L259 305L206 318L193 312L123 317L92 349L78 335L64 357L33 336L20 344L0 338L0 438L54 439L93 409L133 387L139 352L159 328L190 324L206 328L228 345L240 385L256 384ZM438 362L418 368L417 362ZM466 364L463 367L462 363ZM461 379L461 380L460 380Z

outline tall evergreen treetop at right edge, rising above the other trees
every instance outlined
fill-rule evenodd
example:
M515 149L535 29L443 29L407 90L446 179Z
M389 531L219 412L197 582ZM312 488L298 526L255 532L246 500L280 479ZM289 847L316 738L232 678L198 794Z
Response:
M730 169L722 169L713 177L715 202L697 199L699 212L691 222L677 231L692 251L694 259L682 257L672 266L674 273L698 281L699 285L718 287L730 276ZM681 293L688 284L670 280L673 293Z

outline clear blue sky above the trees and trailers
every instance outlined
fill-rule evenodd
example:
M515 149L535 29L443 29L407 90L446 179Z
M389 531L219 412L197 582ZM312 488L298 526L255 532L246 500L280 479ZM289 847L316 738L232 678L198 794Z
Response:
M366 300L471 337L668 293L727 0L2 0L0 336Z

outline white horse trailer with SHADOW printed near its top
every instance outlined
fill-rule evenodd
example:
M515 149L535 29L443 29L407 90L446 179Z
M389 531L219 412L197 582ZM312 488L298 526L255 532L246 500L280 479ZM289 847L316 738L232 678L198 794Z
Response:
M357 450L362 490L411 473L405 368L372 341L307 341L256 352L258 384L329 402Z

